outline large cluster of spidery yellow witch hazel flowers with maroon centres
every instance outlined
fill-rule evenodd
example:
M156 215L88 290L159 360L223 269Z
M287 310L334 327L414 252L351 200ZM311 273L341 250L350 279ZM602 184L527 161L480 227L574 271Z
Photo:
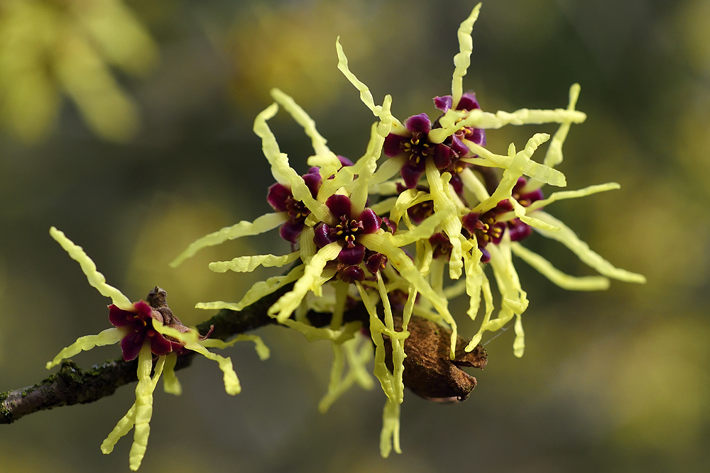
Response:
M360 91L361 101L377 121L365 154L355 162L344 162L329 150L315 123L290 96L278 89L274 103L254 122L254 132L263 144L277 184L268 191L268 203L276 213L253 222L222 228L192 243L171 263L177 266L203 247L226 240L256 235L280 226L280 235L291 243L287 255L241 256L228 262L214 262L217 272L252 271L259 265L283 267L294 263L283 276L258 282L238 303L222 301L197 304L198 308L229 308L235 311L287 284L286 292L268 313L279 323L304 333L310 340L330 340L334 352L331 382L320 408L325 411L355 382L371 386L365 371L371 343L374 345L374 374L387 396L383 414L381 454L386 457L399 447L399 404L403 401L404 347L413 316L427 318L450 330L447 355L460 360L457 322L449 313L449 299L469 297L467 315L483 312L481 325L465 352L479 347L486 331L500 330L514 321L513 352L523 356L525 334L522 316L528 308L513 265L513 255L537 269L564 289L594 291L606 289L609 279L643 283L640 274L613 267L557 218L543 208L561 199L588 196L618 189L616 183L576 191L552 192L542 186L567 185L562 172L562 144L572 123L586 115L575 109L579 85L569 90L567 108L512 113L481 110L472 92L463 91L463 77L470 64L471 30L480 4L459 28L459 53L454 57L452 94L437 96L434 106L441 116L434 121L427 113L399 121L391 113L391 96L375 104L369 89L350 71L346 55L337 40L339 69ZM283 107L300 123L312 140L315 154L308 157L307 174L300 175L280 151L268 120ZM508 124L559 123L557 133L536 133L518 151L512 143L497 154L486 148L486 130ZM540 145L550 140L542 162L532 160ZM384 157L384 159L381 159ZM493 169L500 169L496 174ZM573 277L560 272L520 241L533 230L559 241L601 275ZM496 316L491 284L492 272L501 303ZM445 280L448 279L448 282ZM485 306L481 309L481 299ZM359 301L369 313L366 330L359 323L343 323L348 301ZM332 313L327 328L310 325L309 310ZM447 332L448 333L448 332ZM480 349L480 347L479 347ZM344 375L344 360L349 374ZM475 365L475 364L473 364ZM478 365L477 365L478 366ZM479 367L482 367L480 365ZM467 375L466 375L467 376ZM458 399L465 399L470 386ZM428 398L448 400L450 394L437 389L419 389Z

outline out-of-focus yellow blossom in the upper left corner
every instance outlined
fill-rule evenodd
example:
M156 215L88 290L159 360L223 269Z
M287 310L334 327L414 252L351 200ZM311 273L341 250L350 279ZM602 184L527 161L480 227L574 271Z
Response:
M0 2L0 121L26 143L53 128L62 95L87 126L124 141L138 111L112 74L145 74L157 60L146 27L121 0Z

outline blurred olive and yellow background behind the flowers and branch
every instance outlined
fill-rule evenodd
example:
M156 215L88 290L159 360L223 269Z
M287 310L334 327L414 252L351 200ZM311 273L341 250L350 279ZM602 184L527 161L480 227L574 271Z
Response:
M337 71L351 69L400 119L432 113L450 91L457 27L471 1L0 0L0 391L33 384L77 336L107 328L107 300L49 237L82 245L131 299L158 284L186 323L197 301L236 301L275 272L212 274L207 262L286 250L276 235L168 262L187 243L268 211L271 184L253 117L280 87L339 154L363 154L373 116ZM670 472L710 461L710 1L488 0L474 27L464 87L487 111L567 105L573 126L560 169L570 189L620 191L564 201L552 213L645 286L562 291L525 263L527 349L513 330L488 343L468 401L408 393L403 455L378 455L384 396L354 388L317 413L330 349L278 327L227 352L242 394L197 359L184 394L155 396L141 471ZM433 115L433 113L432 113ZM282 149L305 170L309 141L285 116ZM518 148L552 127L488 133ZM555 242L528 246L591 274ZM453 304L463 316L465 301ZM473 325L463 324L471 335ZM88 367L117 347L75 357ZM3 472L128 471L129 438L102 439L133 389L0 428Z

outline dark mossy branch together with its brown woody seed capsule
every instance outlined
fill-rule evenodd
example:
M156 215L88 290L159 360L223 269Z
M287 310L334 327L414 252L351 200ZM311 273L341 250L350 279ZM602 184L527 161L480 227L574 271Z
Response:
M242 311L222 309L197 326L200 333L212 328L211 338L226 340L233 335L249 332L265 325L279 325L268 316L268 308L283 294L293 289L293 284L284 286L273 294L263 297ZM315 327L330 323L332 314L309 311L307 318ZM344 313L344 322L362 321L369 315L364 304L357 304ZM398 328L401 319L397 318ZM214 328L213 328L214 327ZM480 345L473 352L464 352L466 340L457 340L456 357L449 360L451 330L413 317L408 328L410 332L405 344L405 385L415 394L435 401L463 401L476 386L476 379L461 370L461 367L483 369L487 362L486 350ZM386 337L387 340L387 337ZM391 345L386 344L391 358ZM195 352L188 351L178 357L175 369L191 365ZM391 360L388 360L391 368ZM0 393L0 423L9 424L28 414L74 404L87 404L104 396L114 394L119 386L138 380L137 361L109 360L102 365L94 365L82 371L72 360L64 360L58 373L34 386Z

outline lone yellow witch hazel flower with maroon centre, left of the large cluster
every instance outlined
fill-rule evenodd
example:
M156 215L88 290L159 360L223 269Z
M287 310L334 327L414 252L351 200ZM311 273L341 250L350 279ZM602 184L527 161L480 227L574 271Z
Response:
M119 289L106 283L106 278L97 271L96 265L82 247L75 245L55 227L50 228L50 235L73 260L80 264L89 284L94 286L102 296L111 298L113 304L109 306L109 322L114 327L107 328L98 335L85 335L78 338L75 343L59 352L46 367L51 369L59 365L62 360L78 355L82 351L116 343L121 345L124 360L138 359L136 401L101 445L104 454L111 453L116 442L133 428L135 433L129 453L129 466L131 470L136 471L146 454L153 416L153 392L158 386L160 377L163 377L165 392L176 396L182 394L182 386L175 376L175 365L179 355L190 350L216 361L219 369L224 373L225 391L234 396L241 391L241 385L231 360L229 357L225 358L209 352L207 347L224 348L240 340L251 340L256 344L256 351L261 360L268 358L268 347L256 335L239 335L229 342L207 339L209 333L201 336L197 330L183 325L170 311L167 293L157 286L148 294L146 301L131 303ZM154 361L155 365L153 365ZM151 371L153 371L152 377Z

